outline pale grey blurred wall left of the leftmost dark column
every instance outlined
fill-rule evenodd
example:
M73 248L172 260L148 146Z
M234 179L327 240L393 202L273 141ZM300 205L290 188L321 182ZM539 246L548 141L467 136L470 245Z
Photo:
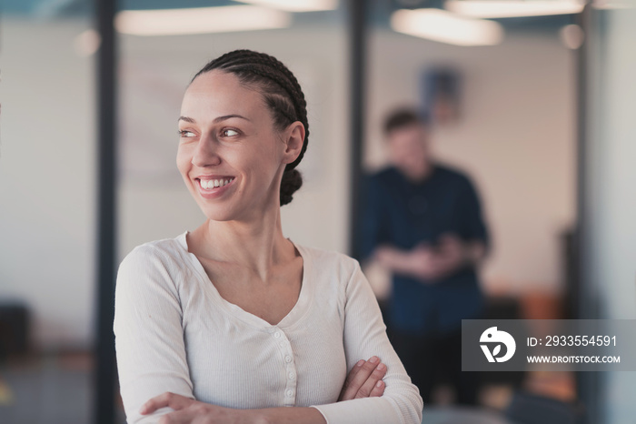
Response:
M36 348L94 340L94 58L80 37L91 24L0 22L0 302L29 308Z

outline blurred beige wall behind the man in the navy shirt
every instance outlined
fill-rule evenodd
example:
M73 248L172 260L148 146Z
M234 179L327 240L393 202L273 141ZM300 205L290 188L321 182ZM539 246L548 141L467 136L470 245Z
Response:
M466 170L492 232L483 280L491 292L559 294L563 231L575 218L575 56L557 31L514 32L465 47L376 28L370 39L367 169L386 162L382 125L422 105L422 75L460 75L461 115L433 129L435 154Z

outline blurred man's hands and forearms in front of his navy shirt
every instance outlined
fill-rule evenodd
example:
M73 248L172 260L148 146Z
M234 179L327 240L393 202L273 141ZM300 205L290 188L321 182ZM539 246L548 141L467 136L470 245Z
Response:
M455 235L445 234L440 237L436 247L424 243L412 250L378 247L374 257L393 272L412 276L422 282L435 282L468 264L476 264L484 255L483 243L466 243Z

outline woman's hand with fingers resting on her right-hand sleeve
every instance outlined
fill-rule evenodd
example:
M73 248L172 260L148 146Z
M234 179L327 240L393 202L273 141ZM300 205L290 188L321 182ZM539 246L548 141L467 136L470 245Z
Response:
M383 381L385 374L386 365L380 361L380 358L360 359L344 381L338 401L382 396L385 388Z

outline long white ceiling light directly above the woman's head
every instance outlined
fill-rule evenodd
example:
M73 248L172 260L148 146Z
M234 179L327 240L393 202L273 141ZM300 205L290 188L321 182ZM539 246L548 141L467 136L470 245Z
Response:
M117 31L130 35L226 33L289 26L292 16L254 5L190 9L124 10L117 13Z

